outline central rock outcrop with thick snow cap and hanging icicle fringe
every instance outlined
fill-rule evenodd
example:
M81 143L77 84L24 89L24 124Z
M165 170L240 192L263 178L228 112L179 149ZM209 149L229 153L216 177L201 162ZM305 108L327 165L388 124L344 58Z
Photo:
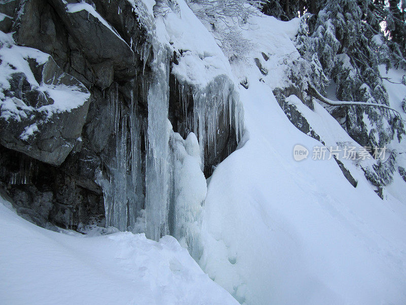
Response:
M155 19L156 39L174 54L171 123L183 137L189 132L197 136L208 177L236 149L243 134L237 81L228 59L186 2L171 2L159 10L165 17Z

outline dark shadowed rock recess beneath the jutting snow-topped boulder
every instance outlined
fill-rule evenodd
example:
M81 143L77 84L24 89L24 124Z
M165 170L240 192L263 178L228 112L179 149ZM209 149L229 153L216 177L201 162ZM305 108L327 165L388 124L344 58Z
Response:
M0 179L4 181L1 184L4 192L0 194L20 216L44 228L57 230L54 225L58 225L76 229L94 218L101 220L103 194L91 177L91 170L94 171L91 165L97 159L86 157L90 156L77 156L85 163L80 168L72 168L74 158L55 167L0 147ZM86 171L89 173L85 174Z

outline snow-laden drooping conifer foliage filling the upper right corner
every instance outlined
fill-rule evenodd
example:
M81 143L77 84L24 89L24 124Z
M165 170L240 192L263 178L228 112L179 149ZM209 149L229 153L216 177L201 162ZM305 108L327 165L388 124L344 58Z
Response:
M340 123L363 146L388 146L405 135L400 115L385 108L389 99L379 72L382 66L406 70L405 9L405 0L270 0L262 8L281 20L303 15L295 43L299 60L307 64L291 67L291 81L306 92L307 100L321 102L326 101L321 96L326 86L335 85L336 97L343 102L327 109L343 113L337 108L344 108ZM395 158L392 154L391 164ZM374 170L366 175L373 176L377 186L391 181L393 166Z

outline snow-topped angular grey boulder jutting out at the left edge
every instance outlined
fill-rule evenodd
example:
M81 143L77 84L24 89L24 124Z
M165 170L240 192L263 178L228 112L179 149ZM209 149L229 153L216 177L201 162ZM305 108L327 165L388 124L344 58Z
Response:
M60 165L81 142L90 93L50 55L0 33L1 143Z

